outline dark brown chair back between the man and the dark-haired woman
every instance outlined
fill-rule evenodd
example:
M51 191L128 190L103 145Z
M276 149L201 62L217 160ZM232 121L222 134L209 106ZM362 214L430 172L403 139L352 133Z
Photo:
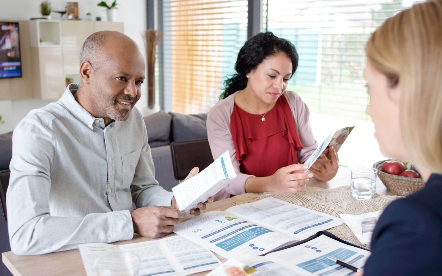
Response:
M189 172L198 167L199 171L213 163L209 140L196 139L170 144L173 174L176 180L183 180Z

